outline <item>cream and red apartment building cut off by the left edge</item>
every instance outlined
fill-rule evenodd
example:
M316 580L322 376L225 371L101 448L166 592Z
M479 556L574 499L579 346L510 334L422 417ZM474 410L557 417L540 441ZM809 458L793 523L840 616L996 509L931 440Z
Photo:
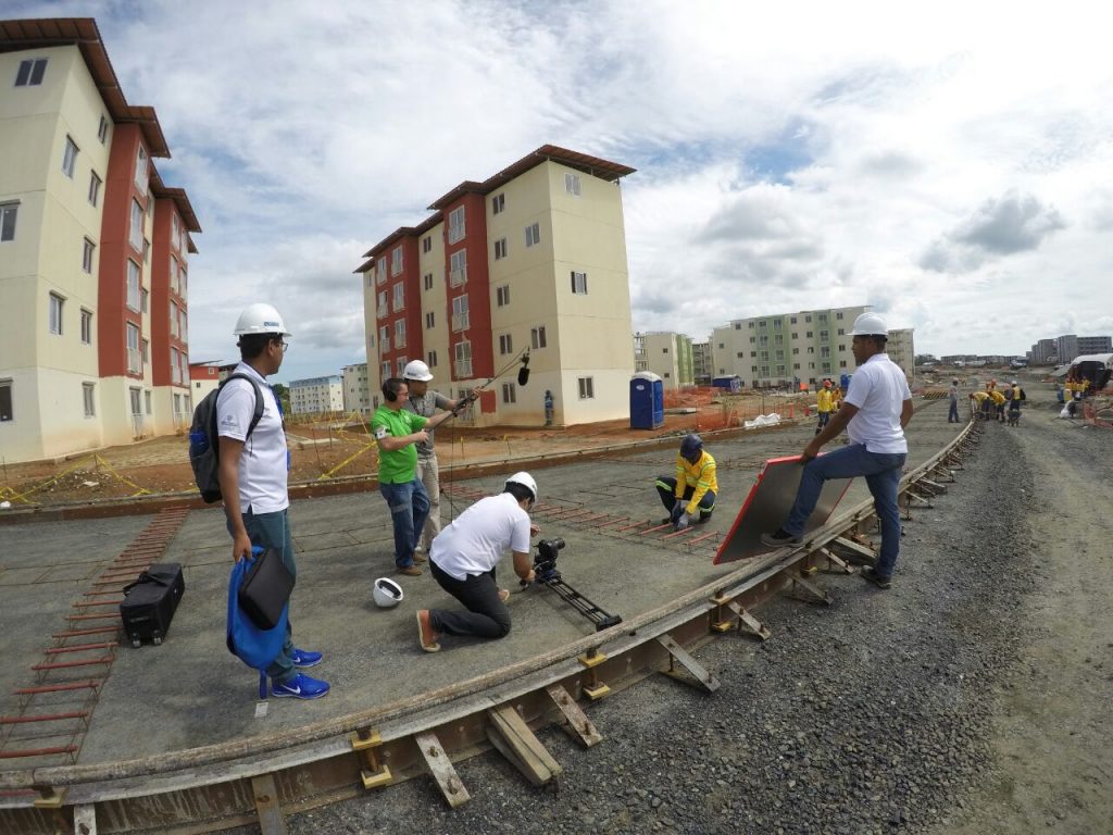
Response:
M0 21L0 449L61 456L188 426L200 226L96 21Z

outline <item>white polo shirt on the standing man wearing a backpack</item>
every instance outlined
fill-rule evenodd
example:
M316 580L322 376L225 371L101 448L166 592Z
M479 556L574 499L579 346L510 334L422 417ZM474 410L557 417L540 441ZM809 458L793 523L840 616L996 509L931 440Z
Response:
M289 507L286 490L289 459L278 401L263 375L247 363L239 363L236 373L253 377L263 395L263 416L250 438L247 428L255 414L255 387L246 380L233 380L220 390L216 401L217 433L237 441L247 438L239 455L239 509L244 513L285 510Z

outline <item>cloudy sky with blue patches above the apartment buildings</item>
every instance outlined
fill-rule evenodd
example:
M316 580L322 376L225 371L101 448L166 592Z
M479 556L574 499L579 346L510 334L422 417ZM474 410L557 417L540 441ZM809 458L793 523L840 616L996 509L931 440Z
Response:
M623 163L633 327L870 304L918 353L1113 333L1100 4L4 0L95 17L204 234L193 360L273 299L362 362L362 254L552 143Z

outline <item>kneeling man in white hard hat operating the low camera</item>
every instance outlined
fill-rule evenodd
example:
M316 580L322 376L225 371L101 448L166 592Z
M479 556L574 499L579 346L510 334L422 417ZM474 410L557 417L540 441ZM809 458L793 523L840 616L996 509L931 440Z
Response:
M526 511L538 500L538 484L528 472L506 479L503 492L480 499L433 540L430 570L441 588L464 605L466 612L421 609L417 636L426 652L441 649L444 635L503 638L510 632L510 591L495 582L495 566L510 549L514 573L532 582L530 537L541 529Z

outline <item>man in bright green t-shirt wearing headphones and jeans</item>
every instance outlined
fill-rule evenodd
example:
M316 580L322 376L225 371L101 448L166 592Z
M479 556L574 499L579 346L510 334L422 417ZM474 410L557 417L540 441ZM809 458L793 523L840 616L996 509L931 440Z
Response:
M414 554L414 547L429 515L429 493L417 479L417 448L429 440L425 429L435 429L454 412L423 418L404 409L410 390L406 381L390 377L383 382L383 405L371 418L371 433L378 443L378 492L386 499L394 525L394 564L398 573L418 577L414 562L425 558Z

